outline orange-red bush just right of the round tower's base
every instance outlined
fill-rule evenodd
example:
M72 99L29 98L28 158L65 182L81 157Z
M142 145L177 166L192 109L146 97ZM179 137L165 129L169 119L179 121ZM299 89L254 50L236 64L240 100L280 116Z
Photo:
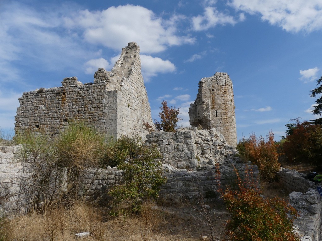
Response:
M266 181L273 181L275 179L280 164L272 131L267 135L266 141L262 136L257 138L254 133L249 138L243 137L239 141L237 149L245 161L251 161L252 164L258 165L262 179Z

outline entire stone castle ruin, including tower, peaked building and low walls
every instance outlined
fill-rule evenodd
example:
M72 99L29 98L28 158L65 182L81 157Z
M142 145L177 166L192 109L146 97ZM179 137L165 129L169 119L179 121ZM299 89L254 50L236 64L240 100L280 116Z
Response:
M196 100L189 108L191 128L146 135L143 123L153 122L141 75L139 47L134 42L122 49L111 71L99 68L93 83L82 84L76 77L64 78L61 87L24 93L19 101L15 135L32 132L53 136L70 121L82 121L114 138L138 132L146 139L146 145L160 150L167 183L159 194L166 202L193 198L196 190L203 197L215 194L219 182L232 183L234 168L241 175L250 168L258 180L258 167L243 163L237 155L232 81L227 73L215 73L199 82ZM19 161L22 145L0 143L0 212L4 214L26 212L30 205L29 186L22 184L22 180L32 173ZM215 174L216 165L220 177ZM63 177L59 178L61 193L67 184ZM301 191L290 194L292 205L301 211L296 222L301 241L321 240L322 198L314 183L285 169L279 172L279 178L287 190ZM121 180L122 170L117 167L85 169L79 195L89 200L97 192L106 193Z

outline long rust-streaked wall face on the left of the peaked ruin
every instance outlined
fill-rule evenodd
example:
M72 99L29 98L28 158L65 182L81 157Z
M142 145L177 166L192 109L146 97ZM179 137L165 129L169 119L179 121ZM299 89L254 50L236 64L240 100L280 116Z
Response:
M40 132L53 136L70 121L83 121L111 136L117 134L117 91L104 81L81 84L64 78L62 87L24 93L15 117L15 134Z

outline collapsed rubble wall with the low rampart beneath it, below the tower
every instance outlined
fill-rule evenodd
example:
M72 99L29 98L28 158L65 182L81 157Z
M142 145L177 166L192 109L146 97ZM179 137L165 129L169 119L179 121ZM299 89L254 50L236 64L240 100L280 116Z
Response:
M236 157L237 151L229 146L216 131L183 128L177 132L159 131L147 135L146 144L160 149L166 184L161 187L160 197L169 203L203 197L218 197L218 183L233 185L236 179L234 168L243 177L246 170L259 182L257 165L243 163ZM216 174L219 168L220 176ZM84 185L84 195L92 193L104 196L110 185L121 181L121 172L116 168L90 169ZM88 191L85 191L88 190ZM90 195L88 195L89 193ZM105 193L105 194L104 194Z

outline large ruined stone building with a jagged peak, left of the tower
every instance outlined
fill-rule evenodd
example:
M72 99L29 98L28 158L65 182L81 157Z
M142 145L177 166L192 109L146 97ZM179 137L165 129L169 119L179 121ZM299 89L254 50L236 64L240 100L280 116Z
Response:
M99 68L93 83L64 78L61 87L24 93L15 116L15 134L53 136L78 120L114 138L133 131L145 138L143 123L153 122L139 52L135 42L128 43L113 69Z

